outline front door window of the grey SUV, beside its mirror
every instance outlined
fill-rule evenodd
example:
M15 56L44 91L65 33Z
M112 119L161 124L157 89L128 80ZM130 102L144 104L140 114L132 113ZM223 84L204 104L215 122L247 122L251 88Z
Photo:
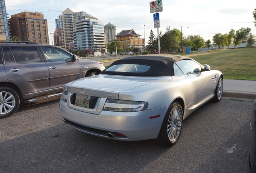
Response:
M63 50L45 46L41 46L41 49L47 61L73 61L72 55Z

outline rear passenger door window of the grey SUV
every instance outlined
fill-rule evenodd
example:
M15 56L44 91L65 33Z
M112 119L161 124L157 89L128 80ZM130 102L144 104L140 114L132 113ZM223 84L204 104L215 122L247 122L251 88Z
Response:
M16 63L41 62L36 47L10 47Z

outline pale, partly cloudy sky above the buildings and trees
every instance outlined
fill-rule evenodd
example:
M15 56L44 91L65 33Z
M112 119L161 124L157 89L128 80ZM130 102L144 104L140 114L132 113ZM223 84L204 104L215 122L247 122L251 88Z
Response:
M43 12L48 21L49 33L55 31L54 19L61 14L56 11L70 8L73 12L85 11L101 20L104 25L108 22L114 24L117 33L133 28L141 35L140 38L144 38L145 25L147 42L151 29L157 35L157 28L153 25L153 13L150 13L151 1L153 0L5 0L5 4L9 17L24 10ZM204 40L212 40L213 35L219 32L225 34L231 29L249 27L252 34L256 35L252 16L256 0L162 0L162 3L159 31L165 32L167 26L181 30L182 26L182 32L186 36L200 34ZM51 44L50 34L49 38Z

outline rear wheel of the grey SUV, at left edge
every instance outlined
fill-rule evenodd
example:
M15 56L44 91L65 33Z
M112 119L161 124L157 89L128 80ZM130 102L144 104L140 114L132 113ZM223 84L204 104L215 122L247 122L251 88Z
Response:
M13 89L0 87L0 119L14 114L19 105L19 95Z

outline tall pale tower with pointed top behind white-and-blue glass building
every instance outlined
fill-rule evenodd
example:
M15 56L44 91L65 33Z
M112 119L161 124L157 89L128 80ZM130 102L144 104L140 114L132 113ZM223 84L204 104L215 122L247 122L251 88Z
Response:
M62 12L62 15L58 16L60 19L60 28L62 35L62 48L70 49L70 43L74 42L73 36L73 14L69 8ZM73 46L73 45L72 45Z

